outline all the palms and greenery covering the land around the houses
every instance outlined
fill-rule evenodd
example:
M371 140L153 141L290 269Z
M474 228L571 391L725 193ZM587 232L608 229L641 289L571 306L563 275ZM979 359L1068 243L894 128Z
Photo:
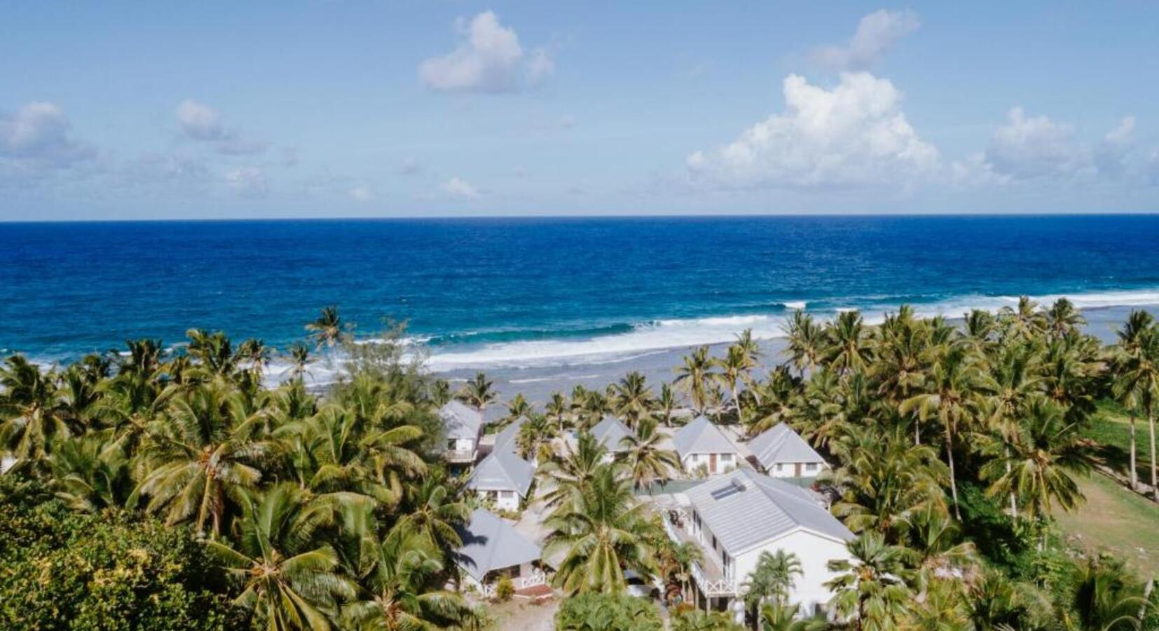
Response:
M1054 518L1084 501L1101 464L1091 415L1131 415L1131 479L1156 480L1159 329L1135 313L1103 347L1066 300L1023 299L964 322L903 307L879 326L858 313L795 314L783 356L751 335L693 350L655 391L632 372L605 390L522 396L516 449L539 463L545 558L566 599L560 629L658 629L628 586L688 602L702 551L677 544L640 498L680 472L663 434L691 414L756 436L789 423L832 470L818 481L857 534L834 560L831 607L848 629L1116 631L1159 628L1145 581L1087 558ZM389 335L352 343L336 310L308 325L285 375L271 350L194 329L188 346L131 341L124 353L45 370L0 370L0 596L8 626L476 629L454 590L451 551L480 500L435 455L436 409L452 396L503 405L482 373L452 393ZM280 382L267 387L268 382ZM614 458L586 429L614 414L634 434ZM1136 441L1135 423L1149 430ZM578 440L562 441L578 429ZM1137 442L1152 452L1139 472ZM7 518L12 515L12 518ZM1139 524L1151 528L1153 524ZM788 594L793 554L743 578L751 626L824 629ZM1150 602L1149 602L1150 601ZM686 609L681 605L679 609ZM677 609L677 610L679 610ZM684 612L684 629L727 626Z

